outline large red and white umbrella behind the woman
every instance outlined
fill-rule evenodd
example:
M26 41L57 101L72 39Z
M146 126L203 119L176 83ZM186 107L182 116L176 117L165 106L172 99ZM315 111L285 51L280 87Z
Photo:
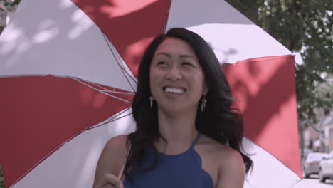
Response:
M230 63L255 164L245 187L300 182L292 53L225 1L29 0L0 36L6 186L92 187L105 142L134 130L144 48L173 27L199 33Z

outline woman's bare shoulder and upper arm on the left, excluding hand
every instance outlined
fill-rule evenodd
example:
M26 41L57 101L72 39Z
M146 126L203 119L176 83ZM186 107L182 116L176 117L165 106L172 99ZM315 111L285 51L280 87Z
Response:
M97 162L94 184L100 182L104 174L117 174L127 154L127 135L112 137L105 144Z

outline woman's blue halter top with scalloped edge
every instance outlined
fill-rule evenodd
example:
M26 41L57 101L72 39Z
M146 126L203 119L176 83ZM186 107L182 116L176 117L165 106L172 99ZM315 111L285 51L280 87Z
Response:
M213 179L201 168L201 157L194 150L201 132L191 147L179 155L158 153L159 159L153 169L142 171L154 163L154 151L148 147L143 162L131 169L128 174L133 182L124 180L125 188L211 188Z

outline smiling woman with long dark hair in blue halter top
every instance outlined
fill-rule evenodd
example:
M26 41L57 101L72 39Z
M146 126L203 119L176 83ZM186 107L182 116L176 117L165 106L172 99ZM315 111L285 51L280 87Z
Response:
M243 124L232 102L203 38L184 28L157 36L139 66L137 130L107 142L94 187L243 187L253 162L241 151Z

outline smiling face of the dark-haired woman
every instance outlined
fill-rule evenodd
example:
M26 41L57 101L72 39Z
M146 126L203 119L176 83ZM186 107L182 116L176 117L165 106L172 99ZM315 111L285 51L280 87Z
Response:
M205 75L192 47L176 38L166 38L150 66L150 90L158 107L166 112L196 110L206 95Z

